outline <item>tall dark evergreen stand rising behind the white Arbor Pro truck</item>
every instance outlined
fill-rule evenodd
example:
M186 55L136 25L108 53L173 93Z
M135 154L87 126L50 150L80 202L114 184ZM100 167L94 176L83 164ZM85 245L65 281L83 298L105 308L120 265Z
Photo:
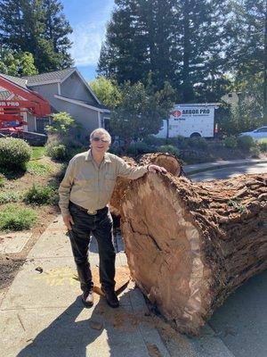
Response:
M98 71L118 83L160 89L169 80L184 102L219 100L223 77L228 0L117 0ZM214 95L216 90L217 95Z

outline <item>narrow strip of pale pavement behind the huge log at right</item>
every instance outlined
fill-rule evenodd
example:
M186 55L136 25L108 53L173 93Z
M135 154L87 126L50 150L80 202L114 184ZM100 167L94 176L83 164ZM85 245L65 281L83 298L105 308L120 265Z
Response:
M198 172L204 172L209 170L217 170L225 167L238 166L238 165L250 165L255 163L266 163L265 159L245 159L245 160L229 160L229 161L218 161L218 162L204 162L197 163L193 165L185 165L183 167L184 172L187 175L192 175Z

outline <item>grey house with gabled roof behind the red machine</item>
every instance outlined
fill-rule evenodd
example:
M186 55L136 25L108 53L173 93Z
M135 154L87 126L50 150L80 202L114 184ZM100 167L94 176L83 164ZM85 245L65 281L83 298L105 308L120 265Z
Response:
M42 95L51 105L52 112L69 112L81 124L81 137L87 137L93 129L104 127L105 119L109 118L109 110L101 105L93 90L85 81L77 68L37 74L17 78L0 74L5 79ZM51 118L36 118L29 112L24 113L26 131L44 133L44 127Z

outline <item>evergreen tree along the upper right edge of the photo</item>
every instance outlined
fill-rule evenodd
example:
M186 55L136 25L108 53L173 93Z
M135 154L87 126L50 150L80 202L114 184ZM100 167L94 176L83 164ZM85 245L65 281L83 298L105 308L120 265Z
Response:
M257 98L267 125L267 1L233 1L229 31L227 56L235 77L234 88ZM251 86L253 82L257 88Z

